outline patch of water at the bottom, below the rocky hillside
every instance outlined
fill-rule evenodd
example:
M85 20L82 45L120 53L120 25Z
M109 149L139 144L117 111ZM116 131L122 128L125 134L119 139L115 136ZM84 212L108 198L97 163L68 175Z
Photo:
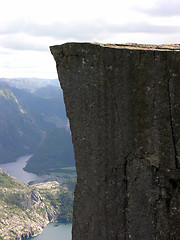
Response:
M29 240L71 240L72 224L49 223L43 232Z

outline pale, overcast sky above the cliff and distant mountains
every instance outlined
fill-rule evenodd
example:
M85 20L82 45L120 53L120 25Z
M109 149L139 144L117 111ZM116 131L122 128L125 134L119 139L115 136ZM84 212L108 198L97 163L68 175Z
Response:
M49 46L180 43L179 0L0 0L0 78L57 78Z

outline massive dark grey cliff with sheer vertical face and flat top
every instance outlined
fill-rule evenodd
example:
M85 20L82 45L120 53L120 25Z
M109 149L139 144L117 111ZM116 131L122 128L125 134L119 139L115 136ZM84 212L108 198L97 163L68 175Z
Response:
M77 167L73 240L180 239L180 45L51 52Z

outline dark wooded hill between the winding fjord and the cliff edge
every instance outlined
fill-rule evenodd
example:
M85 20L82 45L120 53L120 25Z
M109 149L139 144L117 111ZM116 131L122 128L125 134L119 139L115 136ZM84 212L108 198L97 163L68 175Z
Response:
M70 131L55 128L47 132L44 141L28 160L25 171L56 176L75 175L74 151Z

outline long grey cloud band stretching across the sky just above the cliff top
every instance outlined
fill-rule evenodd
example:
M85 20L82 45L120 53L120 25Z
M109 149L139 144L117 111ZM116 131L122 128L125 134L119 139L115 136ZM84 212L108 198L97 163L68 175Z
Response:
M32 22L14 22L6 28L0 30L0 34L25 33L34 37L51 37L58 40L74 39L77 41L89 41L101 34L116 33L156 33L172 34L180 32L179 26L156 25L149 22L128 22L125 24L108 23L105 20L89 22L55 22L49 25L40 25ZM17 44L17 43L16 43ZM6 44L8 45L8 43ZM20 44L19 44L20 45ZM21 47L21 46L15 46ZM28 47L24 45L24 47ZM30 46L35 48L35 46ZM37 47L43 50L43 47Z

